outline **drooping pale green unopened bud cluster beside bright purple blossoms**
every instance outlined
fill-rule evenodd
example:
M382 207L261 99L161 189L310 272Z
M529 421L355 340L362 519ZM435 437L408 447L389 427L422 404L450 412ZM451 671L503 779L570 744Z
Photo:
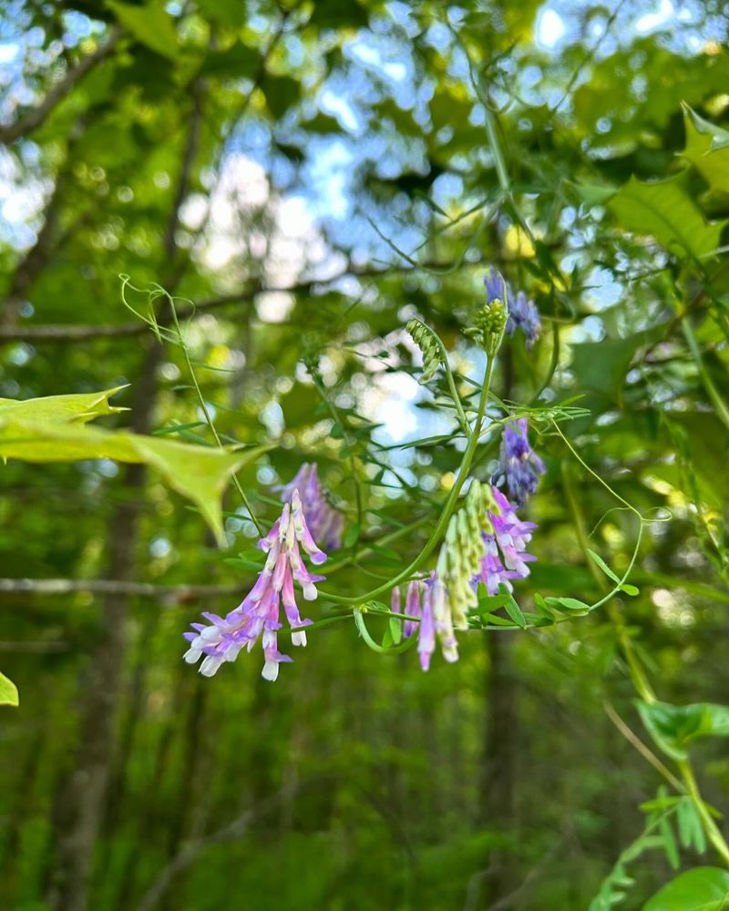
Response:
M478 605L471 584L480 571L484 557L484 534L494 532L489 513L498 512L491 488L480 481L471 482L466 503L448 523L446 539L436 564L436 578L446 589L447 625L451 630L468 629L468 610ZM445 620L445 618L444 618ZM437 618L436 618L437 628ZM445 650L445 644L444 644Z

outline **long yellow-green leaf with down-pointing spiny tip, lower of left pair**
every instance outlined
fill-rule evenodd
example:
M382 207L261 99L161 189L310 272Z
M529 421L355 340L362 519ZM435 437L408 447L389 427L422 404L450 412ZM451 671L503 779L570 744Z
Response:
M166 483L200 508L215 537L222 541L221 496L231 475L270 446L230 452L179 443L157 436L100 430L77 423L21 421L0 415L0 455L26 462L73 462L109 458L144 462Z

